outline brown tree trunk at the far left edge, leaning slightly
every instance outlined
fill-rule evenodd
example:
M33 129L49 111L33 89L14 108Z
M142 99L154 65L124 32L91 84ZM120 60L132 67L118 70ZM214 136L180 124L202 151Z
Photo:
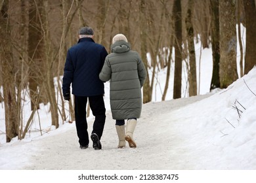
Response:
M18 107L15 91L15 71L12 58L11 33L9 24L9 1L3 2L0 17L0 59L2 64L3 95L5 102L6 142L18 135Z

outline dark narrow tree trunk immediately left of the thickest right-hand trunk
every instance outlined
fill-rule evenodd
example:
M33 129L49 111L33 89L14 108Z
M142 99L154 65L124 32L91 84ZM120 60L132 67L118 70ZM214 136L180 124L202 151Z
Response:
M220 88L219 81L219 0L210 0L211 3L211 49L213 52L213 75L210 90Z

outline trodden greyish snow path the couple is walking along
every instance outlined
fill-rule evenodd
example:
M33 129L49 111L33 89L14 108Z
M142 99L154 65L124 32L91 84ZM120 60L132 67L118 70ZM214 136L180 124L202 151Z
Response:
M186 144L177 135L172 116L169 123L161 122L161 116L171 111L200 101L210 95L148 103L142 106L142 116L135 129L137 148L127 145L124 149L117 148L115 122L110 111L107 112L104 133L101 139L102 150L94 150L92 142L89 148L81 150L77 142L75 124L70 125L64 133L56 133L31 142L26 146L33 147L31 157L27 157L25 166L17 169L62 169L62 170L112 170L112 169L194 169L194 160L186 153ZM93 120L88 122L91 133ZM171 130L170 130L171 129ZM172 130L173 129L173 130ZM54 133L54 132L53 132ZM22 159L22 156L20 157Z

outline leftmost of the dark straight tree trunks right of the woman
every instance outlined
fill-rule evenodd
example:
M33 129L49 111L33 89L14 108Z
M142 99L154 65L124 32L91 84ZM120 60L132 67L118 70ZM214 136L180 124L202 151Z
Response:
M173 16L175 22L175 73L173 99L181 98L181 80L182 80L182 18L181 18L181 0L175 0L173 5Z

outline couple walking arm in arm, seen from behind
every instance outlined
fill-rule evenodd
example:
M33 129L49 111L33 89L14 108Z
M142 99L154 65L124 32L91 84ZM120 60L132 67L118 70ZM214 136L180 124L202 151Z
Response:
M79 30L79 40L69 48L64 66L62 92L64 99L70 101L72 84L72 94L75 96L75 126L80 148L89 147L86 119L88 99L95 116L91 133L93 148L102 148L100 139L106 120L104 82L108 80L112 118L116 120L119 138L118 147L125 147L127 141L131 148L136 148L133 132L142 109L141 88L146 79L146 69L139 54L131 50L131 44L125 35L117 34L113 38L112 53L109 55L104 46L93 41L93 35L91 27L82 27Z

